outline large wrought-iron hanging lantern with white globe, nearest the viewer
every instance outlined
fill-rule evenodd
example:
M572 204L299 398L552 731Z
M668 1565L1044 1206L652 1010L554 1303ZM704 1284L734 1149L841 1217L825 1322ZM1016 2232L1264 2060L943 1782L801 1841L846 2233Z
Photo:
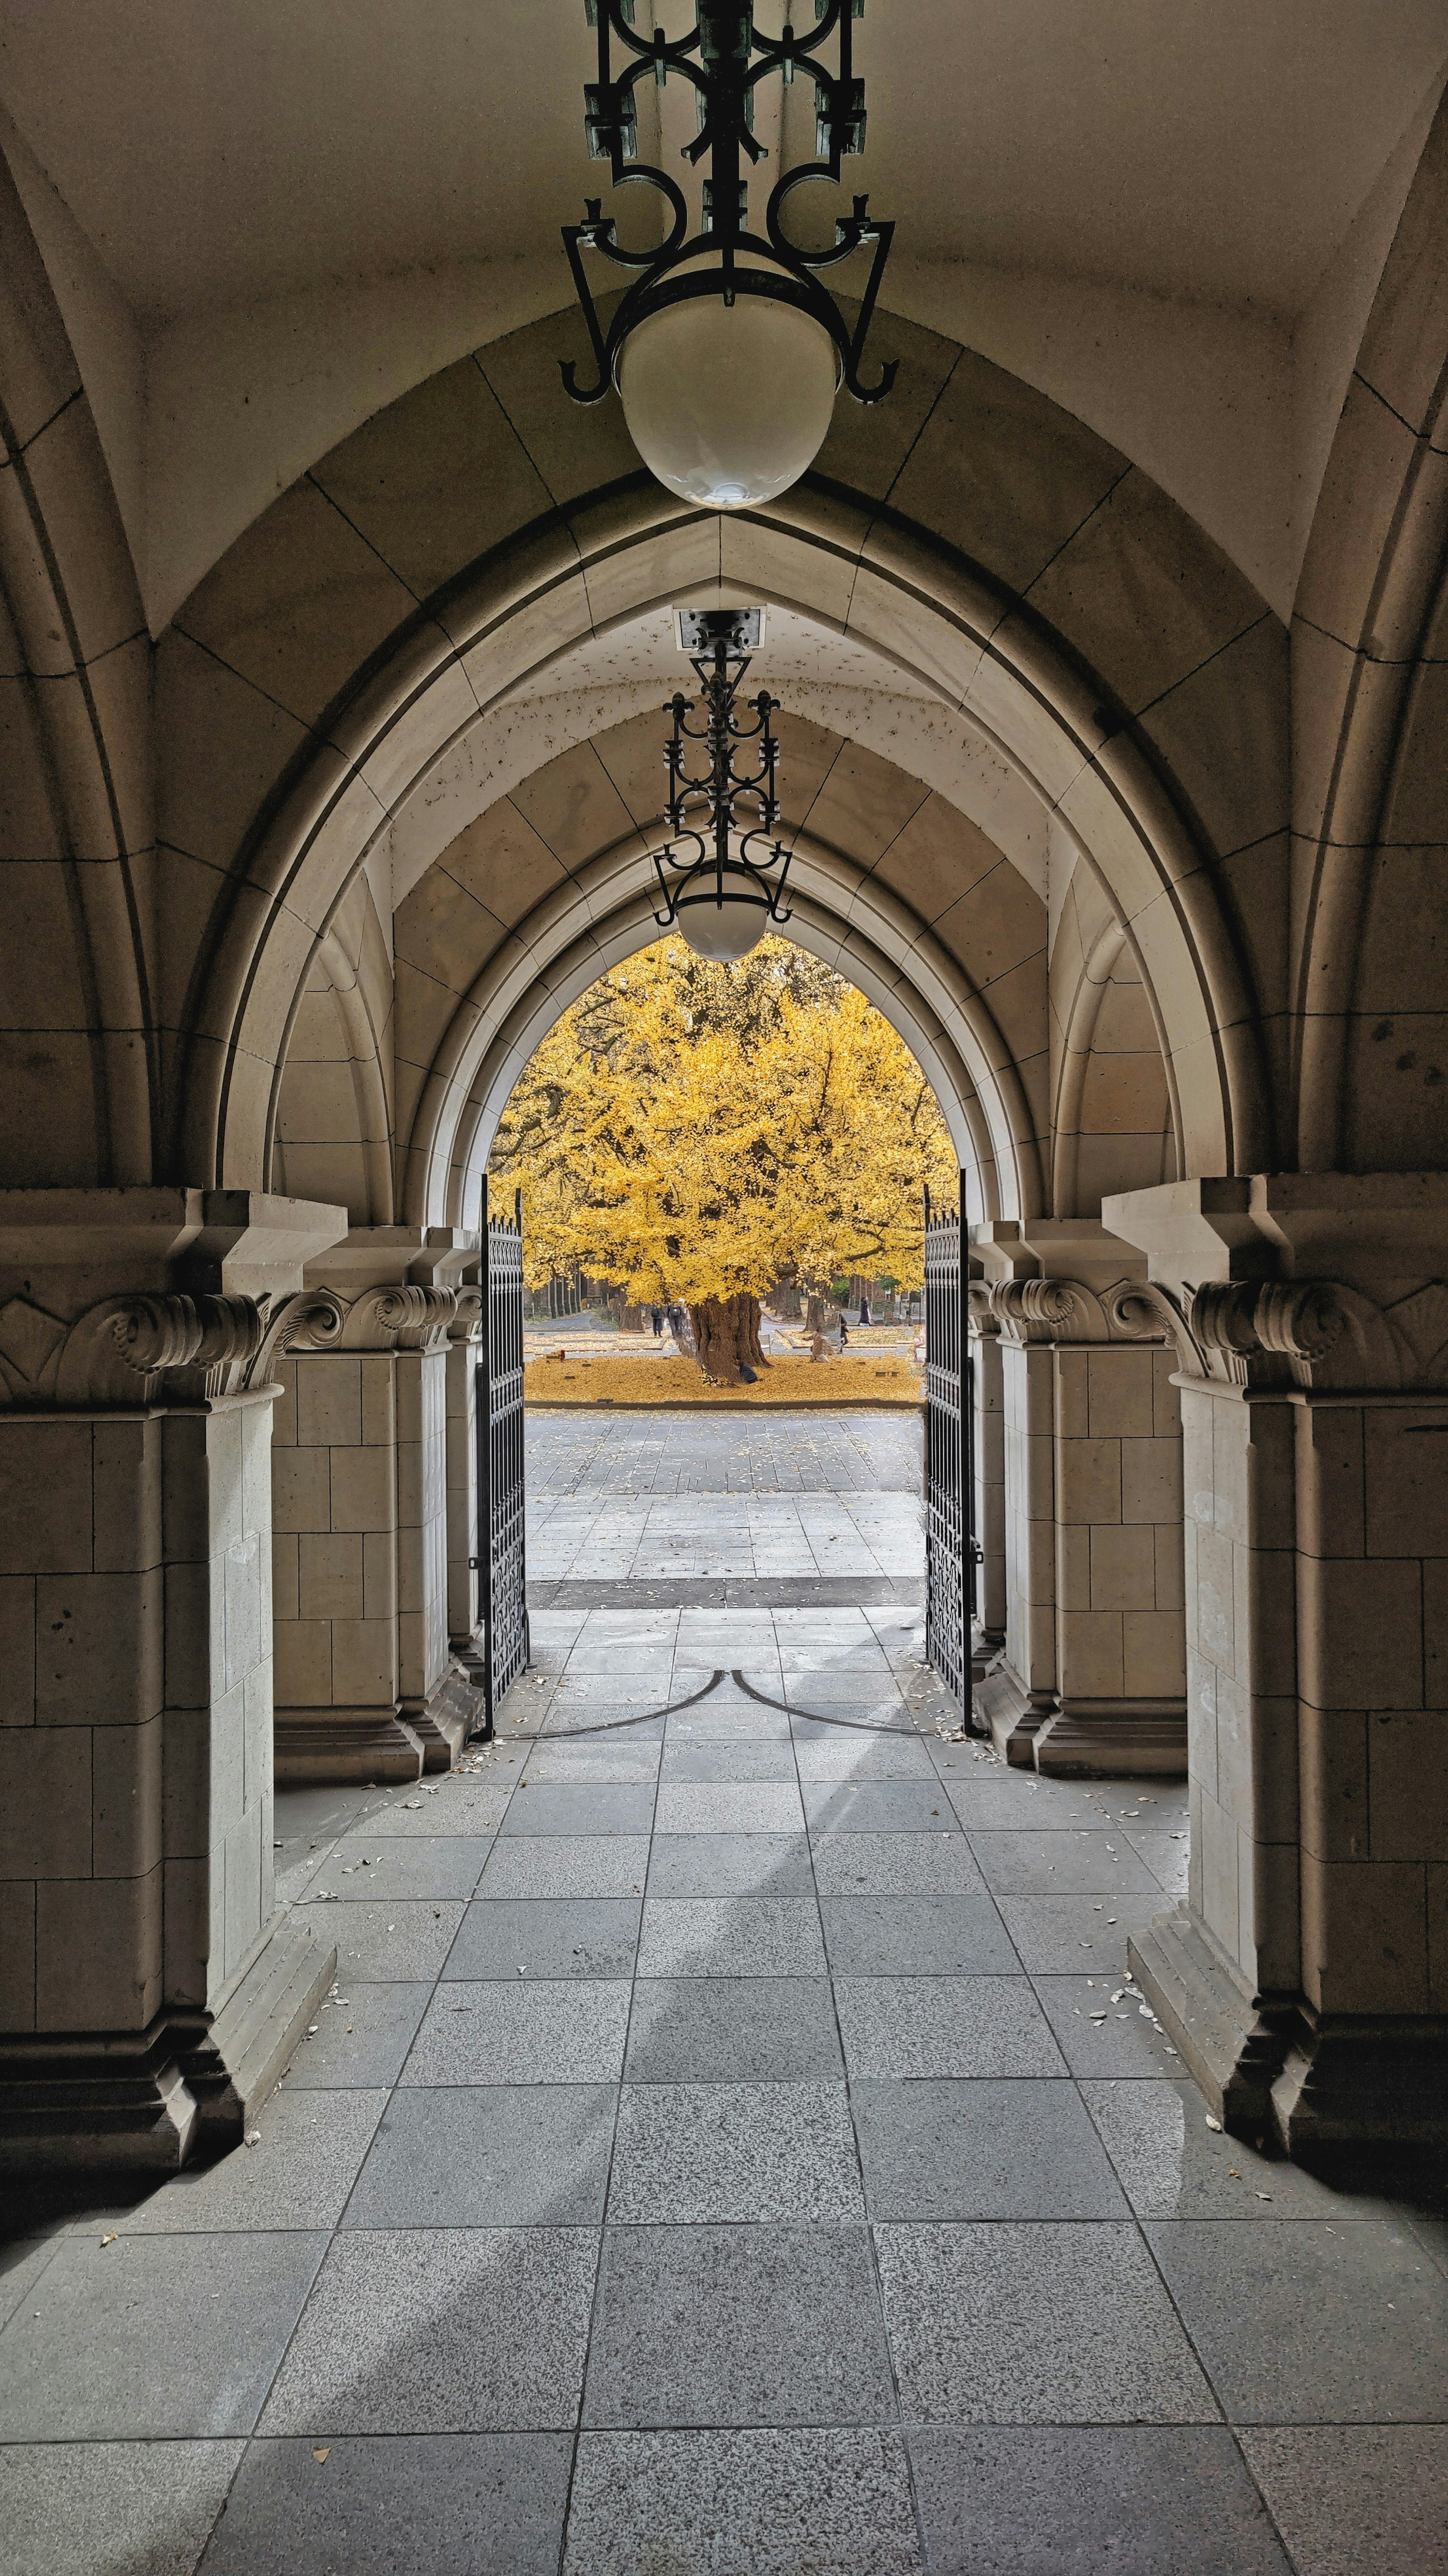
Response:
M786 0L781 36L760 36L752 0L696 0L693 33L670 41L662 28L634 33L634 0L585 0L598 26L598 80L585 85L585 134L593 160L611 165L616 188L644 180L665 201L667 237L657 250L624 250L613 216L587 198L582 224L564 224L577 299L598 376L577 384L562 361L575 402L603 402L618 386L624 417L644 464L680 500L742 510L773 500L814 461L840 384L855 402L889 394L899 361L866 384L866 332L894 237L894 224L868 214L868 198L835 219L827 250L801 250L783 232L786 198L806 180L840 185L840 162L866 147L866 85L853 70L853 18L866 0L814 0L817 26L796 33ZM624 67L613 72L613 44ZM822 59L835 44L835 67ZM776 72L814 77L817 160L781 170L763 232L747 229L742 165L765 160L755 142L755 90ZM703 222L691 234L683 188L639 155L639 82L660 90L670 72L693 85L698 131L683 147L693 165L709 160ZM819 270L873 242L871 273L850 327ZM639 270L608 332L600 325L582 252Z

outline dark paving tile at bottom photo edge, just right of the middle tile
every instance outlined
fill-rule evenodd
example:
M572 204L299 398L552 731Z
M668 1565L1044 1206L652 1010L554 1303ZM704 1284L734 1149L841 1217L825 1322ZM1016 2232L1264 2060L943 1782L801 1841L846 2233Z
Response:
M930 2576L1291 2576L1219 2424L910 2434Z

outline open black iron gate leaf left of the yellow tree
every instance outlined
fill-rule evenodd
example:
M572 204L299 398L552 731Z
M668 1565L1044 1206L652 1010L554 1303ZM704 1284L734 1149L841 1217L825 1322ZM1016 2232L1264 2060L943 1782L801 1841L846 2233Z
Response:
M477 1370L477 1538L484 1618L484 1734L528 1664L523 1546L523 1193L513 1224L492 1216L482 1182L482 1360Z

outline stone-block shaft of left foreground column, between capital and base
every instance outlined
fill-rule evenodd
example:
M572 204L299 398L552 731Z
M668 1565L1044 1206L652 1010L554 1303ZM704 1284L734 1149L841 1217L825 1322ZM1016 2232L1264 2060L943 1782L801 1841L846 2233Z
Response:
M0 2027L211 2004L273 1911L271 1399L0 1419Z

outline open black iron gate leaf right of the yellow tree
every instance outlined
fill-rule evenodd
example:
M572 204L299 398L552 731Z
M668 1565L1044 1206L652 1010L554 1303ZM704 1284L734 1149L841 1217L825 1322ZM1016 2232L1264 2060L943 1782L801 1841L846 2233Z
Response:
M958 1208L933 1211L925 1193L925 1656L969 1716L976 1548L964 1208L964 1172Z

